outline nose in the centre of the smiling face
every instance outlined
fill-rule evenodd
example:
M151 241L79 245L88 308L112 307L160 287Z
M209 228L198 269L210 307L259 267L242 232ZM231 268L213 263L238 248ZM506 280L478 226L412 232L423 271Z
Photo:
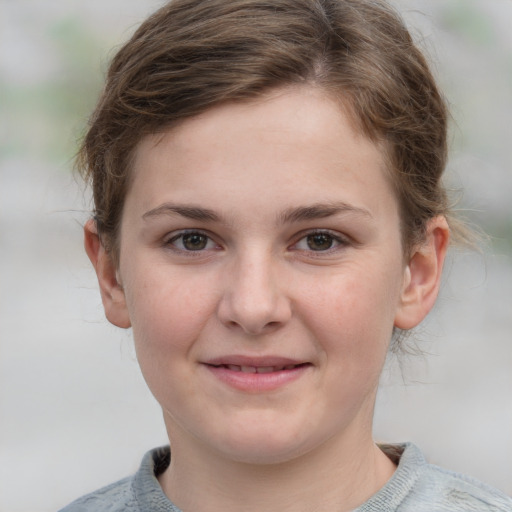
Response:
M291 318L285 276L271 256L240 258L224 277L218 306L224 325L256 336L279 329Z

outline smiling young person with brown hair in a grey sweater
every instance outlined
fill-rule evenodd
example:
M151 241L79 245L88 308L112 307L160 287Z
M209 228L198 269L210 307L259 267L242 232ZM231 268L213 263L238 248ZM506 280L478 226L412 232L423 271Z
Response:
M379 376L450 239L447 113L375 0L175 0L115 56L80 164L107 318L170 448L66 512L512 510L378 446Z

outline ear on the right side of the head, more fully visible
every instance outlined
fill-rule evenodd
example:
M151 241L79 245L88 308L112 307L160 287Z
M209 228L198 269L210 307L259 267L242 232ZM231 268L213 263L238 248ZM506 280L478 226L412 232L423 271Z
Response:
M425 241L414 248L404 271L395 327L416 327L434 306L449 240L450 228L445 217L430 220Z

